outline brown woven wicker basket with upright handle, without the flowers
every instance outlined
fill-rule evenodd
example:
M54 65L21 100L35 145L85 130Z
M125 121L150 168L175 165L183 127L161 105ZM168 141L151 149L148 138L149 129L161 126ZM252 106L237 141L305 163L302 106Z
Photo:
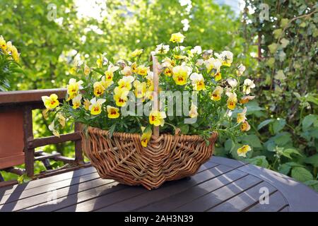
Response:
M158 109L158 61L152 55L155 87L154 109ZM194 175L213 154L217 133L209 145L200 136L160 134L154 126L148 146L141 145L138 133L113 133L88 127L82 133L82 147L103 179L128 185L158 188L165 181Z

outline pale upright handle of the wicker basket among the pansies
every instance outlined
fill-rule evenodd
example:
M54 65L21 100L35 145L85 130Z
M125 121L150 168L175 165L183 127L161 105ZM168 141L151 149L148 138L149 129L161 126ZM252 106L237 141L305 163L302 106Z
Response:
M158 59L155 57L155 52L151 52L149 61L153 62L153 110L159 111L159 68ZM159 126L153 126L153 136L159 137Z

